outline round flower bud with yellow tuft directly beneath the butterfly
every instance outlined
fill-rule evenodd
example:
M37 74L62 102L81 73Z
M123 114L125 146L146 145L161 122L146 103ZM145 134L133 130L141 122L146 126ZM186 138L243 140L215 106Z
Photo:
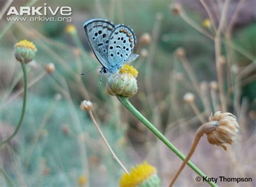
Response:
M124 64L124 66L120 68L119 74L109 75L106 90L110 95L132 97L138 91L137 76L137 69Z

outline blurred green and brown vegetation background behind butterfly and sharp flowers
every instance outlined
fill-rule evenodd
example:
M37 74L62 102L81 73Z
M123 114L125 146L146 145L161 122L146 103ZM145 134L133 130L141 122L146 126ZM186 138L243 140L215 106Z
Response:
M44 3L52 9L70 6L72 21L6 19L10 6L18 10ZM123 170L88 114L79 109L86 99L93 103L100 128L126 168L146 160L157 168L162 186L174 176L181 160L106 92L106 76L102 84L99 70L80 76L100 67L83 24L104 18L130 26L138 40L134 53L140 56L131 63L139 71L138 92L131 103L184 154L211 113L233 113L241 128L238 142L225 152L204 136L191 160L208 176L253 177L252 183L218 183L221 186L255 186L255 4L253 0L1 0L0 140L15 130L22 109L23 74L14 45L27 39L38 50L27 66L24 123L1 147L1 168L17 186L118 186ZM219 25L223 25L218 46L221 82L214 45ZM196 182L196 176L185 167L176 185L208 185ZM8 186L2 174L0 186Z

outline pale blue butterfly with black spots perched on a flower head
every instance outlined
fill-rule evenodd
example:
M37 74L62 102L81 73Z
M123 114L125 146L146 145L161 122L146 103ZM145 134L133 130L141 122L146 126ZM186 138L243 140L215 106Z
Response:
M132 53L137 40L128 26L91 19L84 24L84 31L93 53L103 66L100 70L102 74L118 73L124 63L132 62L139 56Z

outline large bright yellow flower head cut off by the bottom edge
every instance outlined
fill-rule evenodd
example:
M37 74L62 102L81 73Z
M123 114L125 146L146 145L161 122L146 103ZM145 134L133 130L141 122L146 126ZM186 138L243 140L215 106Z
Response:
M130 175L124 173L119 182L120 187L157 187L160 186L160 179L157 176L157 169L143 162L136 168L131 168Z

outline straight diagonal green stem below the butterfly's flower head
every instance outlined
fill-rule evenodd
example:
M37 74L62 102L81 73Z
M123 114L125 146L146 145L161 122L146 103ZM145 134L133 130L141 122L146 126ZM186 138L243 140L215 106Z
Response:
M177 149L169 140L165 138L163 134L161 134L160 131L157 130L156 127L154 127L149 120L147 120L128 100L128 98L123 97L123 96L117 96L119 101L128 109L135 117L137 117L144 125L146 125L149 130L154 133L161 141L165 143L167 147L169 147L177 156L180 157L181 160L185 160L186 156L183 155L179 149ZM207 177L203 171L201 171L196 165L194 165L191 161L187 162L187 165L193 169L201 178ZM206 179L207 183L210 184L211 186L218 186L217 184L213 182L208 182Z

